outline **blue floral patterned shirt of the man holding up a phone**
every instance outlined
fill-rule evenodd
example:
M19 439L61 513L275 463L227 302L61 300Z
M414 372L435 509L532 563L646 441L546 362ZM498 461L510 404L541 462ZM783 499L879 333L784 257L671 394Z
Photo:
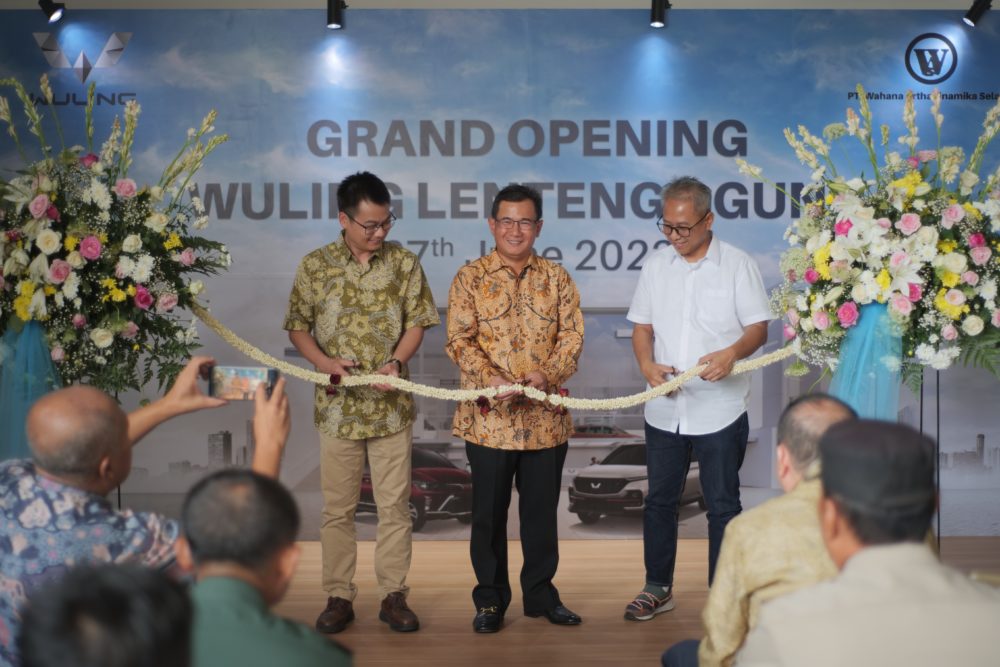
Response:
M25 598L80 563L173 561L177 523L119 512L106 499L39 475L31 461L0 463L0 665L17 664Z

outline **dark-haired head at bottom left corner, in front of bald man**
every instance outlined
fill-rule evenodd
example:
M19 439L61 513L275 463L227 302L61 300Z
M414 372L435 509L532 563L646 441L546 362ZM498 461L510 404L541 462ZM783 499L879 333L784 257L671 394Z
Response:
M83 565L32 592L17 639L23 667L187 667L191 601L166 573Z

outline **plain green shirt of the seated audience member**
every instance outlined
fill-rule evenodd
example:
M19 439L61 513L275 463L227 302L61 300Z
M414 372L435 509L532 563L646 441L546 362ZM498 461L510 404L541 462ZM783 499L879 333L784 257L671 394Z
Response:
M250 584L208 577L191 589L193 667L349 667L351 654L310 628L275 616Z

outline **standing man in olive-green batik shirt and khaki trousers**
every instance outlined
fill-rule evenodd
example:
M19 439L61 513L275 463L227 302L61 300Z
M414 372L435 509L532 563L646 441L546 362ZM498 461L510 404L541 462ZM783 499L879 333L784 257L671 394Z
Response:
M395 222L389 190L377 176L349 176L337 189L340 237L299 264L284 328L321 373L408 377L424 329L440 322L420 262L385 238ZM365 455L378 506L375 575L379 618L393 630L417 630L407 606L412 523L410 452L413 397L388 385L316 387L323 487L323 589L320 632L340 632L354 620L357 538L354 513Z

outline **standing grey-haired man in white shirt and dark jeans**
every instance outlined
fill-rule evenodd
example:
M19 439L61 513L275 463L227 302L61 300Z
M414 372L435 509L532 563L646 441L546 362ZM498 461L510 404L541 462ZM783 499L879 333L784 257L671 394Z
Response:
M646 585L625 608L630 621L674 608L677 504L692 455L708 506L709 584L726 524L742 509L739 469L749 432L750 378L730 373L767 340L771 312L756 262L712 234L711 198L696 178L663 188L656 224L670 247L642 267L628 312L632 349L651 387L708 364L699 378L646 404Z

